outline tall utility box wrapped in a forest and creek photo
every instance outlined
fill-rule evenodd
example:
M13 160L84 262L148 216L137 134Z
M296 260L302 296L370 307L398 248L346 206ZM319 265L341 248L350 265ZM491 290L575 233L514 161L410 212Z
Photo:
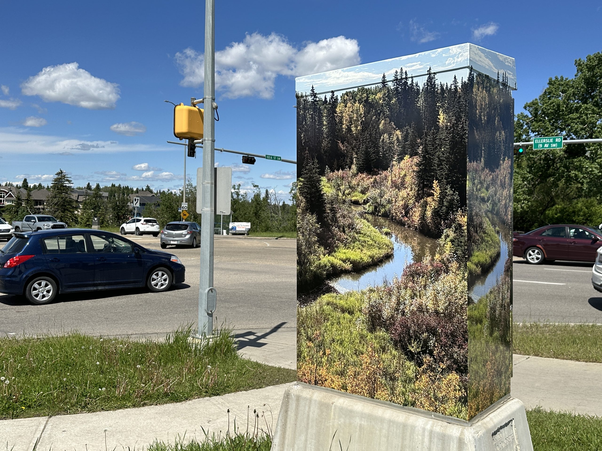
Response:
M510 393L514 59L296 79L299 381L469 420Z

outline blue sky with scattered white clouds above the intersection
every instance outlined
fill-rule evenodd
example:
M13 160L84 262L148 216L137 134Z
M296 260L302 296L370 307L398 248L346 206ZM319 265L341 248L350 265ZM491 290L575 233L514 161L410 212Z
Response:
M60 6L59 6L60 5ZM367 7L368 5L368 7ZM203 96L204 2L4 2L0 182L181 186L173 106ZM199 26L193 27L196 22ZM602 50L602 3L216 1L216 147L295 159L296 76L471 42L516 60L516 112ZM194 177L197 159L188 159ZM294 165L216 153L287 192Z

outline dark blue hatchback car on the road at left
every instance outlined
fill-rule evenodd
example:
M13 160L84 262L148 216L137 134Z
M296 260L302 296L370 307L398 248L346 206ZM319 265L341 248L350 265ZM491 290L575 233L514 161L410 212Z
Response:
M48 304L58 293L147 286L154 292L183 283L175 255L141 247L101 230L13 233L0 250L0 293Z

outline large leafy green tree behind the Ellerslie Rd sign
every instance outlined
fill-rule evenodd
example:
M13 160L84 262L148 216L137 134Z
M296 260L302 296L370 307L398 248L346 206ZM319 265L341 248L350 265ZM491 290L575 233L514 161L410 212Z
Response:
M515 120L515 141L559 136L602 138L602 52L575 61L574 78L548 79L543 93ZM517 230L548 222L602 222L602 145L570 144L562 150L527 150L515 160L514 220ZM579 205L582 209L577 212ZM582 222L580 222L580 220Z

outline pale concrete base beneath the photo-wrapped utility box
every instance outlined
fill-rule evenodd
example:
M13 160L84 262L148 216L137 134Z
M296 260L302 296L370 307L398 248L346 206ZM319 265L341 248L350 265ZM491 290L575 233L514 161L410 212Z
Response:
M507 396L470 422L297 382L272 451L533 451L525 408Z

